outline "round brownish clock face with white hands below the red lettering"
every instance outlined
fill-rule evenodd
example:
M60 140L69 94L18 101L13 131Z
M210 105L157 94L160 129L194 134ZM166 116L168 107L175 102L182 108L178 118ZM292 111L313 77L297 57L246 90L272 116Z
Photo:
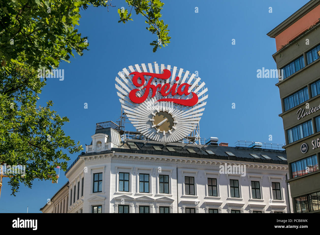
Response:
M174 127L174 118L168 112L159 111L153 116L152 124L157 132L167 133L169 130L171 132Z

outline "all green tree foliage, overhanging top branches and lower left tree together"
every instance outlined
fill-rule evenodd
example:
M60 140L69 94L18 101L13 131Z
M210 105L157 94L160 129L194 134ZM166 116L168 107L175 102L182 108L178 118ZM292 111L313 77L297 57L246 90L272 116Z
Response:
M160 20L163 3L125 1L131 10L118 9L119 22L132 20L134 8L147 19L148 31L158 36L150 43L153 51L170 43L168 25ZM50 109L52 101L36 106L45 85L36 70L57 68L62 60L70 62L75 52L81 56L88 50L87 37L76 26L81 9L89 6L115 7L110 0L0 1L0 165L26 165L24 177L10 174L13 195L21 182L31 187L35 178L55 180L55 167L66 170L70 160L64 152L83 149L65 136L62 126L69 120Z

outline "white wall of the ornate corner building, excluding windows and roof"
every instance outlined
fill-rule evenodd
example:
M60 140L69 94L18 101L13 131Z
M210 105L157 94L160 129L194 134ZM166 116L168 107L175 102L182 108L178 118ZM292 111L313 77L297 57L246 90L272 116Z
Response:
M289 212L289 200L285 174L287 165L255 162L227 161L173 156L139 155L134 153L109 153L96 156L80 156L81 159L67 173L70 188L84 177L84 196L69 206L68 213L91 213L92 205L102 205L103 213L117 213L117 205L130 205L131 213L138 213L139 205L150 206L151 213L158 213L158 206L169 206L170 213L184 213L185 208L196 208L196 213L208 213L208 208L217 208L219 213L229 213L231 209L241 213L259 210L263 213L274 211ZM246 166L246 175L219 174L220 164ZM178 166L178 190L177 170ZM87 172L85 167L87 167ZM160 168L161 167L161 173ZM93 193L93 173L103 173L102 192ZM118 191L119 172L130 173L130 192ZM150 174L150 193L139 193L139 174ZM169 194L159 193L158 175L169 175ZM186 195L184 176L195 177L196 195ZM216 178L218 197L209 197L207 178ZM239 180L240 198L230 198L230 179ZM250 181L259 181L262 199L252 199ZM271 182L279 182L282 200L273 200ZM77 189L76 189L77 190ZM178 191L178 195L177 195ZM72 195L72 198L74 195ZM77 193L76 193L77 197ZM177 197L179 202L177 203ZM70 201L70 195L69 195ZM68 202L69 203L69 202ZM179 204L179 206L178 206ZM68 204L69 205L69 204ZM292 206L291 206L292 208Z

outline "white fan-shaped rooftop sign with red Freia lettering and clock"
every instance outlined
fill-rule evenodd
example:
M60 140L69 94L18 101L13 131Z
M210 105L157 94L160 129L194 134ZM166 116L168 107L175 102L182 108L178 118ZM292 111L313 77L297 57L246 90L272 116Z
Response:
M133 126L146 138L162 142L175 142L190 135L208 98L208 89L200 77L164 64L128 68L118 73L116 89Z

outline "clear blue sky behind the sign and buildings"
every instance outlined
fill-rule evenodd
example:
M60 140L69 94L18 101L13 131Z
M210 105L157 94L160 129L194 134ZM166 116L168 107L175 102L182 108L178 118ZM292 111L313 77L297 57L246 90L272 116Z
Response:
M88 36L90 51L63 62L64 80L48 79L39 105L54 102L53 109L70 122L64 131L84 146L91 143L95 123L117 121L120 103L115 77L124 67L141 63L165 64L199 72L209 98L200 121L200 136L218 137L234 146L237 140L284 144L284 130L276 78L257 78L257 69L275 69L275 39L266 34L296 12L308 0L209 1L162 0L162 19L169 25L171 43L156 53L156 40L145 28L143 17L118 23L117 9L89 7L82 11L79 32ZM195 13L195 7L199 12ZM268 8L272 7L272 13ZM236 39L236 45L231 40ZM84 103L88 109L84 109ZM236 103L236 109L231 104ZM127 128L129 129L129 128ZM133 130L133 127L132 127ZM269 141L272 135L272 141ZM78 153L70 154L71 164ZM68 179L60 172L58 184L35 180L32 189L20 185L14 197L4 178L0 213L40 213Z

